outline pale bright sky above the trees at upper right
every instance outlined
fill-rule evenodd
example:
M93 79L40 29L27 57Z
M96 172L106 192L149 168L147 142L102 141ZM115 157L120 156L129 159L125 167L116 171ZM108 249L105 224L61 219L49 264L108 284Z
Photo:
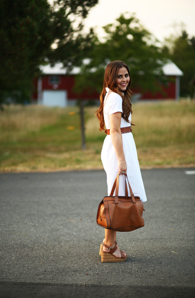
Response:
M195 36L195 0L99 0L84 20L85 31L93 27L101 38L105 36L101 28L126 12L135 12L140 23L160 41L179 32L174 23L183 22L189 36Z

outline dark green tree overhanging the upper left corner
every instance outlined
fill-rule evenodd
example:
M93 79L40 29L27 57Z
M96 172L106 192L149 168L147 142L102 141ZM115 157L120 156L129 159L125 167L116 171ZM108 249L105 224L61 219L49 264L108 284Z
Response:
M0 0L0 103L30 98L38 66L61 61L80 64L93 32L81 34L82 23L98 0ZM55 47L52 45L55 44Z

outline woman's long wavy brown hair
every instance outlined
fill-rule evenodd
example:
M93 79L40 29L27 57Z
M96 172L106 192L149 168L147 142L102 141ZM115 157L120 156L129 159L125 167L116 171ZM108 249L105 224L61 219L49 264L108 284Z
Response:
M119 68L125 67L129 74L129 84L127 85L126 90L122 92L119 90L119 87L116 85L117 75ZM105 69L104 74L104 85L100 95L100 107L97 111L95 111L96 117L100 121L100 131L105 130L105 121L104 121L104 98L106 95L106 87L108 87L112 92L118 93L122 97L122 118L124 118L128 123L129 115L132 114L132 105L131 105L131 96L133 92L130 90L131 86L131 76L129 73L129 68L123 61L117 60L110 62Z

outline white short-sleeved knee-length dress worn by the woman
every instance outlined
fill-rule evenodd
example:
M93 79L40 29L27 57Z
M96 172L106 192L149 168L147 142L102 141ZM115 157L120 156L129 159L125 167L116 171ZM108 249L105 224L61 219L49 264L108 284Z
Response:
M122 113L122 97L106 88L104 99L104 120L106 129L110 129L109 115L116 112ZM109 94L108 94L109 93ZM131 121L131 114L129 116ZM125 119L121 118L121 127L130 126ZM136 129L136 128L135 128ZM137 151L132 133L122 133L122 145L127 163L127 177L134 196L139 196L142 202L147 201L144 184L141 177L140 166L137 159ZM107 174L108 196L110 195L113 183L119 172L118 159L110 135L107 135L101 151L101 161ZM129 192L130 195L130 192ZM125 196L125 176L119 176L119 196Z

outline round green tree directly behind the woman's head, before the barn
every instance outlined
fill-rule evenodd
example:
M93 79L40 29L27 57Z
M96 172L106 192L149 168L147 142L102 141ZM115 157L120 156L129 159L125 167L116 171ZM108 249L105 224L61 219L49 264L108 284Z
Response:
M88 60L83 61L81 74L77 76L75 90L101 90L105 66L114 60L127 63L132 77L132 87L141 87L142 91L161 91L157 84L158 75L167 54L156 45L157 40L132 15L121 15L118 24L104 27L107 33L105 42L94 38ZM163 81L163 80L161 80Z

